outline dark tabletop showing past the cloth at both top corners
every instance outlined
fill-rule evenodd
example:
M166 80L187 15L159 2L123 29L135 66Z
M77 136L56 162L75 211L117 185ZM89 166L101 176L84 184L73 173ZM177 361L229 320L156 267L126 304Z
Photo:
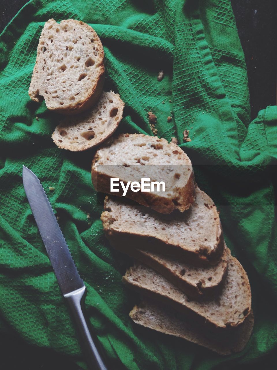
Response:
M0 0L0 32L27 3ZM251 118L259 110L276 104L277 1L231 0L248 70Z

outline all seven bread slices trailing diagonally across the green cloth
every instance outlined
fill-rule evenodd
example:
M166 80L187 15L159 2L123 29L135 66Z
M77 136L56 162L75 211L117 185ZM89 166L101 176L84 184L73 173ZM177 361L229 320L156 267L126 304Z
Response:
M113 91L102 91L103 58L92 27L50 19L29 95L65 115L52 135L58 147L102 145L93 158L92 182L110 194L103 228L110 244L135 260L123 283L143 296L130 317L220 354L240 351L253 329L251 292L246 272L225 245L216 206L195 185L191 161L178 145L143 134L110 138L124 103ZM165 189L129 187L124 194L111 191L112 178L124 186L143 178L164 181Z

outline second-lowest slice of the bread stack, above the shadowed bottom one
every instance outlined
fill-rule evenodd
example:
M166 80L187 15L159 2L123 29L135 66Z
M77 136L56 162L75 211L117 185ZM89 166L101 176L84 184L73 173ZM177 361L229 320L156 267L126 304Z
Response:
M146 265L135 265L123 276L123 283L172 306L200 322L215 327L235 327L243 323L251 310L251 290L246 272L239 261L228 251L228 270L221 292L215 297L192 299L165 277Z

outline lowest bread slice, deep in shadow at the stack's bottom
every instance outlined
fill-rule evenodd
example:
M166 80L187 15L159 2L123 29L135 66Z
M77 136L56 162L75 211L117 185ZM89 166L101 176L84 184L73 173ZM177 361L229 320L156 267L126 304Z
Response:
M197 325L188 317L180 318L178 313L149 300L135 306L129 316L135 323L144 327L186 339L221 355L242 351L254 326L254 315L251 311L239 327L227 329L224 333L213 332L205 325Z

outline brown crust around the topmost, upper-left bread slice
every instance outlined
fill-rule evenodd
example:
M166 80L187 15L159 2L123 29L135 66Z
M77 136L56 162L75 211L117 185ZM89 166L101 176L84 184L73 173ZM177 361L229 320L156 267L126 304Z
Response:
M54 19L49 19L45 23L45 26L47 26L48 22L52 23L52 22L55 22L55 20ZM63 24L63 23L66 23L66 22L67 23L81 24L82 26L86 27L90 32L93 31L92 36L95 39L95 43L99 46L99 49L100 49L99 54L100 54L100 58L102 60L102 63L100 65L100 68L99 68L99 71L98 71L97 81L96 81L96 83L90 85L89 90L86 93L86 97L83 99L82 102L78 102L77 104L72 103L72 104L67 104L67 105L61 105L61 107L51 107L50 105L46 104L47 108L49 110L54 110L55 112L58 112L58 113L61 113L61 114L64 114L64 115L69 115L69 114L72 115L72 114L78 114L80 112L83 112L83 111L89 109L90 107L92 107L93 105L96 104L96 102L98 101L98 99L100 97L100 94L101 94L102 89L103 89L104 81L105 81L105 67L104 67L104 63L103 63L103 61L104 61L104 50L103 50L103 46L102 46L102 43L101 43L98 35L93 30L93 28L90 27L88 24L83 23L82 21L75 20L75 19L62 20L60 22L60 24ZM44 30L44 28L43 28L43 30ZM42 30L42 32L43 32L43 30ZM39 66L38 60L39 60L39 58L42 58L41 56L39 56L39 51L40 51L40 47L41 47L41 41L43 41L43 38L44 38L44 36L41 33L40 41L39 41L38 47L37 47L37 59L36 59L36 62L35 62L33 75L32 75L30 88L29 88L30 98L34 101L42 101L43 98L44 98L44 92L41 91L41 86L36 85L36 80L35 80L36 74L40 73L40 71L38 70L38 68L39 68L38 67Z

